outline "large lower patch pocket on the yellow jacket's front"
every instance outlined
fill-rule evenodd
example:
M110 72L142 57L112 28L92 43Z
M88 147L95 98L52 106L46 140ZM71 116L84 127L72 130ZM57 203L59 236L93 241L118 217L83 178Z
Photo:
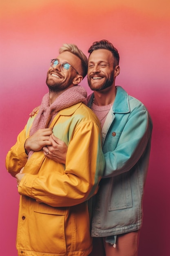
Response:
M35 205L34 214L29 221L31 250L55 255L66 254L65 214L64 207L60 209L44 203Z

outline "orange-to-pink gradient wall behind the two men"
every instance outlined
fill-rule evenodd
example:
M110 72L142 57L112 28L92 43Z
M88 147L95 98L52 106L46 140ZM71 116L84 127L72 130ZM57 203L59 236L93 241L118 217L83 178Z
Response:
M120 53L116 84L148 108L154 128L139 256L169 256L169 0L6 0L0 7L0 256L17 256L19 195L7 151L48 91L46 72L63 43L110 40ZM82 85L88 90L86 78Z

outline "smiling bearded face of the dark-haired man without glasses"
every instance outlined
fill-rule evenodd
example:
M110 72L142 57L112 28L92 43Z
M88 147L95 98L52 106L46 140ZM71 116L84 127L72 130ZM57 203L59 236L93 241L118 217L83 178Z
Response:
M88 85L93 91L101 91L115 81L114 57L106 49L98 49L88 59Z

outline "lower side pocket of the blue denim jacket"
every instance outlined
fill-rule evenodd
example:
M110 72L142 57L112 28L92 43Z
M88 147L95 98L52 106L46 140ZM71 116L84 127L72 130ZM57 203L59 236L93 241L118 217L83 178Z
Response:
M112 178L108 195L108 210L131 208L132 191L129 173L122 173Z

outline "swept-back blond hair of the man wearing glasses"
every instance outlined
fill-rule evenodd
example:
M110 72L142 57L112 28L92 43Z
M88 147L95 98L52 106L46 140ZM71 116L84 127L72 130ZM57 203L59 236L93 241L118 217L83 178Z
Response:
M61 54L62 52L71 52L81 60L83 72L82 76L84 78L88 70L88 59L86 55L77 47L77 45L73 44L63 44L63 46L59 49L59 54Z

